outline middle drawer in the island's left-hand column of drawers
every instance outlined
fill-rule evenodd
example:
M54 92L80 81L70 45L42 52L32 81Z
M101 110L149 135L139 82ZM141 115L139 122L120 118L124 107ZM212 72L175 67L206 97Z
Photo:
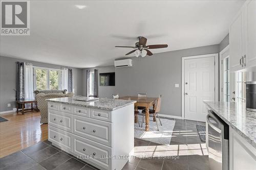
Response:
M48 116L49 125L72 132L72 114L48 110Z

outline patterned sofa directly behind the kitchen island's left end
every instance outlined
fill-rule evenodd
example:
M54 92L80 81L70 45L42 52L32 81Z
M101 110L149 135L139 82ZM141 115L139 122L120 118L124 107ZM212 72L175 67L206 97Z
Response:
M41 124L47 124L48 123L48 103L47 99L54 99L54 98L67 98L67 97L73 97L74 93L69 92L67 94L63 93L38 93L36 94L36 100L37 100L37 108L41 112Z

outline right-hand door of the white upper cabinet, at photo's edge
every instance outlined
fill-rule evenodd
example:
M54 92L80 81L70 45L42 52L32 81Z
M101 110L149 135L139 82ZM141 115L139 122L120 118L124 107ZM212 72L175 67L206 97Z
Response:
M256 66L256 1L245 3L246 67Z

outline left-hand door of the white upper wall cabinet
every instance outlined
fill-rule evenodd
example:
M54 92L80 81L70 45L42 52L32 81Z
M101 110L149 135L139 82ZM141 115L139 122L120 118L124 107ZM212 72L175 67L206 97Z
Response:
M230 71L242 69L240 59L243 56L243 37L243 12L240 10L229 29Z

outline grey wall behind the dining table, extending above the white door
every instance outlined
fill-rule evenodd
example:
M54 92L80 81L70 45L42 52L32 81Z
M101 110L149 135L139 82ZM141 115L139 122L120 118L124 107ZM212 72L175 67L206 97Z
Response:
M116 68L116 91L120 95L162 94L160 113L181 116L181 58L213 53L219 53L219 45L159 53L143 59L133 57L132 67ZM175 88L175 83L180 87Z

